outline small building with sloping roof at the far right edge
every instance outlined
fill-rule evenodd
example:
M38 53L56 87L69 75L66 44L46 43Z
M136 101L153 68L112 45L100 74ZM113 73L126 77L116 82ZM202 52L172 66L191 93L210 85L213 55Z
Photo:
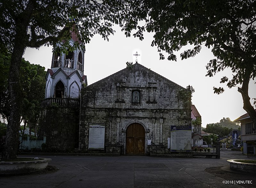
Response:
M255 109L256 111L256 109ZM244 146L244 153L256 154L256 132L255 125L248 113L240 116L234 121L241 122L241 141Z

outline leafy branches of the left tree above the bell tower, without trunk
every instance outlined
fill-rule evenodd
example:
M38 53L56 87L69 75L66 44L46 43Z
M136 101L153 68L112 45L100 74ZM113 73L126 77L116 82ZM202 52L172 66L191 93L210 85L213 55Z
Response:
M108 36L115 33L114 24L120 27L128 27L128 22L136 24L132 14L135 6L136 3L130 0L4 1L0 4L1 43L12 51L16 46L15 40L22 33L22 42L25 42L22 47L55 46L60 41L66 42L67 46L74 25L85 43L89 43L95 34L108 40Z

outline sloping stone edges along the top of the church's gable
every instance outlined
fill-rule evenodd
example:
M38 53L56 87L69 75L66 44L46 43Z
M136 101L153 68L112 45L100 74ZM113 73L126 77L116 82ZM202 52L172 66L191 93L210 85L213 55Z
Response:
M147 67L144 67L144 66L140 65L139 63L135 63L134 65L132 65L132 68L135 69L137 66L138 66L138 67L141 67L141 68L143 68L143 69L146 69L146 71L148 71L148 72L150 72L150 73L152 73L152 74L155 74L155 75L159 76L160 78L162 78L163 80L169 82L170 84L174 84L174 85L180 87L181 89L185 89L185 88L183 88L182 86L178 85L177 83L174 83L174 82L172 82L171 80L168 80L168 79L165 78L164 76L162 76L162 75L160 75L160 74L157 74L156 72L154 72L154 71L148 69ZM105 80L108 80L109 78L114 77L114 76L116 76L117 74L124 73L124 72L126 72L126 71L128 71L128 70L129 70L129 69L126 67L126 68L124 68L124 69L122 69L122 70L120 70L120 71L118 71L118 72L116 72L116 73L114 73L114 74L111 74L110 76L108 76L108 77L106 77L106 78L103 78L103 79L101 79L101 80L99 80L99 81L97 81L97 82L92 83L91 85L89 85L89 86L87 86L87 87L94 87L94 86L97 85L98 83L103 82L103 81L105 81Z

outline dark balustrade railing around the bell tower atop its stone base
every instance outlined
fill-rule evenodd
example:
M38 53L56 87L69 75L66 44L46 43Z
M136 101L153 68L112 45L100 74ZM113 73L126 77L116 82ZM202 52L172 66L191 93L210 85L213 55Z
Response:
M41 102L41 107L51 106L63 106L63 107L79 107L79 100L72 98L45 98Z

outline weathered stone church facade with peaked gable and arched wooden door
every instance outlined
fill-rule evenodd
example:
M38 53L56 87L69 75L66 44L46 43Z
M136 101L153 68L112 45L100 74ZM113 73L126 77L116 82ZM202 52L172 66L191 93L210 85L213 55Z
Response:
M83 88L80 149L94 152L104 147L106 153L124 155L170 153L171 126L191 125L191 97L182 98L182 91L187 92L139 63ZM97 128L104 128L101 138L99 131L98 138L91 134ZM102 141L99 146L97 139L104 139L104 145Z

